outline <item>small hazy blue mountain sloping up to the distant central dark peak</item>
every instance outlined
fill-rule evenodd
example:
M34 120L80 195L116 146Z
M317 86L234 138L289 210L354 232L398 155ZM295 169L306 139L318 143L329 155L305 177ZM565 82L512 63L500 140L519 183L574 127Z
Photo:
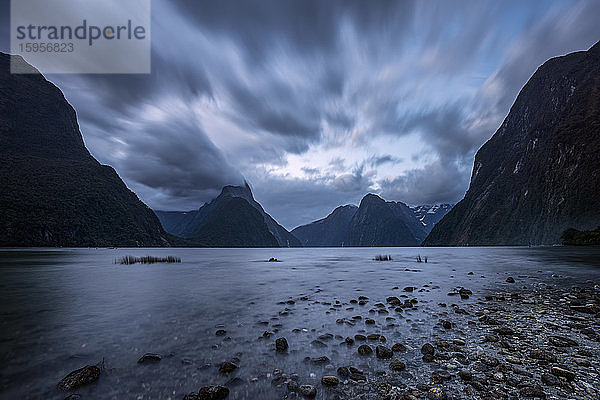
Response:
M341 247L346 243L350 221L356 214L355 205L340 206L327 217L292 230L303 246Z

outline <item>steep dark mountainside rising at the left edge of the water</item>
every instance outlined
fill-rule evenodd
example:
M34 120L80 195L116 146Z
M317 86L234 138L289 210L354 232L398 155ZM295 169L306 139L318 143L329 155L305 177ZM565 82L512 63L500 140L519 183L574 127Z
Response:
M11 57L35 74L10 73ZM0 53L0 246L165 246L158 218L85 148L75 110Z

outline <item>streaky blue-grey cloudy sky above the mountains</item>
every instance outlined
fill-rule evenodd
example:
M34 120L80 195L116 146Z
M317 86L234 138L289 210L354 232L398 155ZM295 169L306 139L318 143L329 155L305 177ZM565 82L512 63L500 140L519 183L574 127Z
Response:
M521 87L600 40L599 16L585 0L153 0L151 74L47 79L151 208L245 179L292 229L367 193L458 202Z

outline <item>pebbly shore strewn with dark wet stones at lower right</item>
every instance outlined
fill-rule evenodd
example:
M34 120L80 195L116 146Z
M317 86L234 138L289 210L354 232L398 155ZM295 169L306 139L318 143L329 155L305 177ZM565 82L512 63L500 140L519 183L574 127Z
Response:
M273 355L275 368L245 373L248 352L223 354L203 366L219 377L212 385L172 398L250 398L240 388L268 382L265 396L273 399L599 399L600 288L592 281L565 289L528 278L503 277L494 290L476 293L461 286L440 293L432 282L393 287L395 295L381 298L323 299L316 289L282 299L277 315L254 326L253 342ZM285 323L314 313L331 324ZM430 332L419 330L422 318ZM401 325L415 334L399 335ZM231 341L228 327L216 327L214 340ZM297 363L286 358L291 354ZM139 363L160 361L145 354ZM88 366L58 387L74 391L98 374Z

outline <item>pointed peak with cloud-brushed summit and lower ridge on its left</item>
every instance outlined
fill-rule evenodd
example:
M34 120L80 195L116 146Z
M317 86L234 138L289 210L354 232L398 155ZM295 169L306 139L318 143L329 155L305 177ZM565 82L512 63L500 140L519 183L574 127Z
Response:
M300 247L300 241L254 200L250 186L225 186L198 210L155 211L165 230L210 247Z

